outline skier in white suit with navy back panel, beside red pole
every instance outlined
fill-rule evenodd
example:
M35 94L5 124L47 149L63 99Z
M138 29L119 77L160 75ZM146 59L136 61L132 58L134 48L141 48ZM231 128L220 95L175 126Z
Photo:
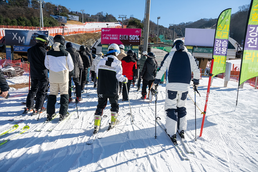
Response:
M200 69L197 59L184 46L182 40L173 44L171 52L166 54L161 62L161 68L157 73L153 88L156 89L163 74L167 71L165 111L167 113L166 129L167 134L176 142L176 132L183 136L186 130L186 108L185 102L193 72L194 88L197 89L200 78ZM171 140L172 140L171 139ZM173 141L173 140L172 140Z

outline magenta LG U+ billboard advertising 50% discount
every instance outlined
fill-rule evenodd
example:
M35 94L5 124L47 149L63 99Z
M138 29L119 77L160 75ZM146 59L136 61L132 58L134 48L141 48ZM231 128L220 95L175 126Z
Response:
M102 28L101 44L140 45L141 29Z

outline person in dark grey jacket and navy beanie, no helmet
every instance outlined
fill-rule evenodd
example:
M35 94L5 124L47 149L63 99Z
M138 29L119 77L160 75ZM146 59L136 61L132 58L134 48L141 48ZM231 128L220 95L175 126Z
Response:
M81 56L79 52L76 51L75 48L73 48L73 44L71 42L67 42L66 44L66 51L70 53L73 59L73 65L74 65L74 75L70 75L69 73L69 87L68 87L68 94L69 94L69 103L73 101L72 98L72 76L73 76L73 82L75 84L75 90L76 90L76 100L77 102L81 101L81 83L79 74L80 71L83 70L83 62L81 60Z

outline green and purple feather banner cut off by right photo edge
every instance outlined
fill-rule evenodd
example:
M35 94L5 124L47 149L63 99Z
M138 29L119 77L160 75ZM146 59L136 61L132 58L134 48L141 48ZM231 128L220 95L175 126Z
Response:
M239 84L258 76L258 0L252 0L245 29Z

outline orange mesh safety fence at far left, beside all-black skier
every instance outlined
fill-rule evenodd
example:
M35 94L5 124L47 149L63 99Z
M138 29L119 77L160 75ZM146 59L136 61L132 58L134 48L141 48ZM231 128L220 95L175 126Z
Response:
M13 60L14 61L14 60ZM9 63L1 66L3 75L10 87L8 93L11 97L19 97L28 94L30 64L29 62ZM4 98L0 98L2 100Z

